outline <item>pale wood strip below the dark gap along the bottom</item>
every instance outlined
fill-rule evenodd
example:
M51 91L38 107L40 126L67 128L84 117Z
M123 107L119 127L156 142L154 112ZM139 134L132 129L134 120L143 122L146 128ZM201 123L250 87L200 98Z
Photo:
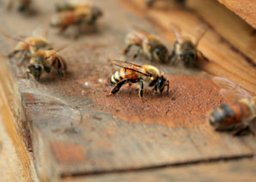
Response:
M255 160L220 161L180 167L149 169L140 172L111 173L88 178L67 179L79 181L255 181ZM65 181L65 180L64 180Z

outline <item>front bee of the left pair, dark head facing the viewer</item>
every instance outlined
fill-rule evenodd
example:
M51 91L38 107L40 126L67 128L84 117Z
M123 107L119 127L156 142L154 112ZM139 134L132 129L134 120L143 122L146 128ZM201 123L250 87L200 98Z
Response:
M32 74L34 79L40 80L43 72L50 73L55 68L58 74L64 77L66 63L64 58L58 54L59 50L38 50L27 65L27 76Z

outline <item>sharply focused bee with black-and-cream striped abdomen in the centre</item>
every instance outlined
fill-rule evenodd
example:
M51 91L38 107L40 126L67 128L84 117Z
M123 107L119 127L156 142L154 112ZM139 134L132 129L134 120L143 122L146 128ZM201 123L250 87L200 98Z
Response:
M157 68L151 65L136 65L129 62L121 62L113 60L113 64L121 69L113 74L110 80L110 85L113 89L110 91L109 96L117 93L119 89L125 84L139 83L139 97L143 99L143 87L148 85L154 87L153 91L160 92L167 86L167 94L169 91L169 81Z

